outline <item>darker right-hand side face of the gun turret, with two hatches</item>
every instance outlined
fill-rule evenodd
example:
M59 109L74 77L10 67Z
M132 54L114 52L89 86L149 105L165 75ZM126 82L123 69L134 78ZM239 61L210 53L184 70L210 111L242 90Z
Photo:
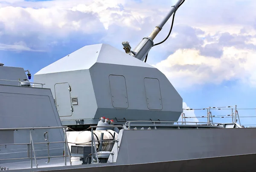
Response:
M126 120L178 120L180 117L182 98L158 69L96 63L90 68L90 75L98 105L95 118L104 115ZM113 84L109 84L112 75L125 78L129 105L126 109L113 107ZM118 91L121 87L116 83L115 92L125 98Z

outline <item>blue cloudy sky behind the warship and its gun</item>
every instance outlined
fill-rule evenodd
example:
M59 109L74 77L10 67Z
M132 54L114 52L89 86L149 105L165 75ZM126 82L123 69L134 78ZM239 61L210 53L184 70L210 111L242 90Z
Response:
M176 0L0 0L0 63L29 69L45 66L91 44L134 48ZM237 105L256 117L256 1L186 0L175 14L172 34L154 46L147 63L159 69L183 98L183 108ZM162 41L171 19L154 39ZM33 80L33 77L32 77ZM206 110L184 111L188 117ZM212 110L229 115L230 110ZM206 121L189 118L187 121ZM231 122L214 118L213 122ZM243 125L256 118L241 118Z

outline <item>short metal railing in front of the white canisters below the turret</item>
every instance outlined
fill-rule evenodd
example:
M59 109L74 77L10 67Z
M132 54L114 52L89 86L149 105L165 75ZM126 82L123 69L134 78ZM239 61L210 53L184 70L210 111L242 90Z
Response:
M94 140L94 136L93 136L93 128L106 128L106 127L111 127L111 128L115 128L115 127L121 127L122 129L124 129L124 126L90 126L89 129L91 129L91 156L92 156L92 162L93 163L93 157L94 157L94 154L93 154L93 148L95 150L95 155L96 155L96 160L97 162L99 162L99 158L98 158L98 154L97 154L97 149L96 149L96 144L95 144L95 140ZM119 140L114 140L115 138L113 138L113 140L97 140L97 142L119 142ZM118 148L118 146L117 146ZM110 155L114 155L114 152L111 152L111 153L103 153L103 154L110 154ZM99 154L99 155L103 155L102 153Z

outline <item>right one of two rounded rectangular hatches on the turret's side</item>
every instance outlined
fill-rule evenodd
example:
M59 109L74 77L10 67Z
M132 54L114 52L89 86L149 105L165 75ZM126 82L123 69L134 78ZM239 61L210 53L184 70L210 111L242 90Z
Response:
M150 110L162 110L163 103L159 80L156 78L144 78L147 106Z

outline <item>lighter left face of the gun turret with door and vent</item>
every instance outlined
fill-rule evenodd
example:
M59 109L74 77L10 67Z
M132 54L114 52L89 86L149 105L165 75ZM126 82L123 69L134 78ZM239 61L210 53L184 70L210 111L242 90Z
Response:
M51 89L52 95L56 99L57 106L58 103L62 103L63 106L63 103L67 104L67 106L63 107L65 109L64 113L61 113L61 111L58 112L63 125L76 125L79 124L76 120L94 118L97 104L89 70L35 75L34 80L35 82L45 83L44 87ZM61 83L63 83L64 87L61 86L60 88L57 85ZM68 96L68 85L71 87L71 99ZM58 89L58 95L60 97L55 95L55 89ZM65 96L61 95L61 92L63 92ZM63 101L63 98L69 100ZM71 102L71 104L68 102ZM70 115L68 116L67 114L69 114L69 112L67 111L71 109L71 106L73 107L73 114L70 110Z

